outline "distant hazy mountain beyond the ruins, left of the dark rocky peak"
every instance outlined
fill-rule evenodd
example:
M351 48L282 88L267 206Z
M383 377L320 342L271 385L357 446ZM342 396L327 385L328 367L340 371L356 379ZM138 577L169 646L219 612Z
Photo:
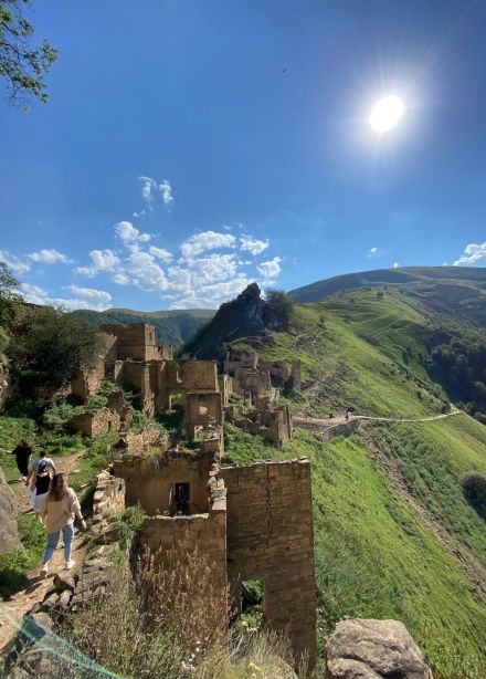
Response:
M184 309L181 311L134 311L131 309L108 309L92 311L82 309L73 314L87 318L96 325L106 323L150 323L156 328L156 340L159 344L179 346L187 342L196 331L212 318L214 311L209 309Z

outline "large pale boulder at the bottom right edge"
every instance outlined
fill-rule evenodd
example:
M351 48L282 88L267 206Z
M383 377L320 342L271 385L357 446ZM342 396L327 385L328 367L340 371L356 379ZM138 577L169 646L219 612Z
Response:
M326 643L328 679L432 679L422 651L398 620L348 618Z

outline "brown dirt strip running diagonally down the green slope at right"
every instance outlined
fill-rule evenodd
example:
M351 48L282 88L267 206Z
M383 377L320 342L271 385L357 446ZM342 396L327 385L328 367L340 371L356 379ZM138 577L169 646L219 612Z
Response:
M456 415L451 412L450 415ZM440 419L440 418L433 418ZM423 420L420 420L423 421ZM429 421L429 420L425 420ZM473 586L474 594L478 602L486 604L486 567L475 556L475 554L459 540L452 535L446 527L420 502L408 489L406 483L393 460L391 460L376 445L366 426L360 427L360 436L371 451L373 457L379 460L383 471L391 481L393 488L399 492L412 512L429 527L441 546L458 563L461 568L467 573Z

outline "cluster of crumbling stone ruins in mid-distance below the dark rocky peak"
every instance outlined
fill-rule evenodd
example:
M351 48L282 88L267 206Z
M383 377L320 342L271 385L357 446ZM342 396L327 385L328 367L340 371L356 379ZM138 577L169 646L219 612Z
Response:
M300 364L288 369L282 362L260 363L256 353L229 352L224 373L218 375L215 361L175 359L171 346L158 346L155 328L146 323L124 327L102 325L104 348L96 365L77 370L71 391L87 404L105 377L134 390L147 417L170 410L180 403L188 439L222 427L224 412L237 427L258 433L278 448L292 437L288 408L278 406L281 388L300 388ZM243 396L250 410L233 416L230 397ZM125 431L131 424L130 409L124 406L122 390L109 397L105 408L73 417L68 425L85 436ZM220 440L222 443L222 432Z

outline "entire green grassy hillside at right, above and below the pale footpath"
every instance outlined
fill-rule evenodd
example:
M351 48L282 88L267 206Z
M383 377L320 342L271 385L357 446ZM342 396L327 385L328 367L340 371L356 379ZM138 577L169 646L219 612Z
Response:
M296 305L288 331L257 346L265 361L300 359L303 391L284 395L293 412L349 407L377 419L328 443L297 429L283 451L230 429L226 453L241 463L308 456L323 630L345 615L397 618L435 677L476 679L486 676L486 523L461 478L486 474L486 427L452 410L436 380L437 328L463 332L395 286Z

